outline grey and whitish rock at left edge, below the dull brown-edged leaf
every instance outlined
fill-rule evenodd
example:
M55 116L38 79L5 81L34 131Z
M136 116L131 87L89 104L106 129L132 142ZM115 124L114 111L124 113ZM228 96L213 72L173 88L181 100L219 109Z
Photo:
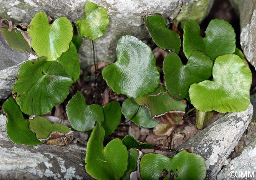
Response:
M31 52L12 50L1 38L0 32L0 99L7 98L11 94L20 64L35 58L37 56Z

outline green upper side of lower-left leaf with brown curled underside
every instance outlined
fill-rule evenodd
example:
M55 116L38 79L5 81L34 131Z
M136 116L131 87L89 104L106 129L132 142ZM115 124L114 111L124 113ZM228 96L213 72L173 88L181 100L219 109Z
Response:
M68 126L59 123L52 123L41 116L36 116L33 119L30 119L29 127L30 130L37 134L38 140L48 138L52 132L67 133L71 131Z

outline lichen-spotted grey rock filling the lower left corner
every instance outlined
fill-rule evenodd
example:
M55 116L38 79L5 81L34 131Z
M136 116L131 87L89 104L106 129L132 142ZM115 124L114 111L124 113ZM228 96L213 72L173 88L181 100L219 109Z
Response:
M0 179L93 179L85 171L86 148L13 144L5 133L6 117L0 115Z

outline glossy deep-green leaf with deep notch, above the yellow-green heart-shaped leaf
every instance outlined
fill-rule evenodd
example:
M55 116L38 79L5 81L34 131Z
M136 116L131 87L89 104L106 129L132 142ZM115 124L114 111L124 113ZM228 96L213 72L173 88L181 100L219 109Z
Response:
M236 34L225 20L211 20L205 38L200 35L200 27L195 21L186 21L184 25L183 50L187 58L195 50L204 52L212 60L225 54L233 54L236 48Z

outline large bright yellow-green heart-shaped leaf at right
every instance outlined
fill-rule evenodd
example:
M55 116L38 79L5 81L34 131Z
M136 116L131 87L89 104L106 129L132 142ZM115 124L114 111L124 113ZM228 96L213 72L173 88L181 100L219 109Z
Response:
M244 111L250 103L251 70L239 56L219 56L212 68L213 81L203 81L189 88L191 103L199 111L220 113Z

